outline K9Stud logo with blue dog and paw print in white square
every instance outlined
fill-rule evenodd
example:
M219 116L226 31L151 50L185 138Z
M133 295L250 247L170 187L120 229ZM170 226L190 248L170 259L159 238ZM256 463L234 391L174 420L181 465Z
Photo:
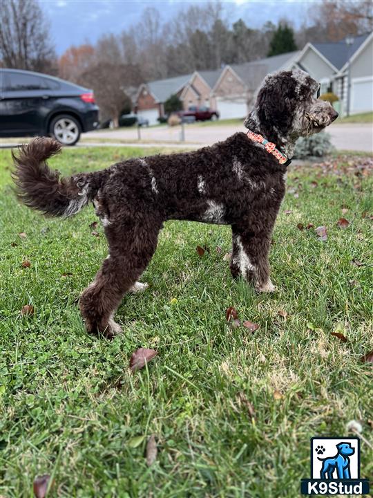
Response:
M311 479L302 479L303 495L365 495L360 479L360 440L356 437L311 439Z

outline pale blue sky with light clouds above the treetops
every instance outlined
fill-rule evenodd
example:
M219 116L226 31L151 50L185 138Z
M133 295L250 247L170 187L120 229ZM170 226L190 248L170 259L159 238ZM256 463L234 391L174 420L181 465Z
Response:
M194 3L203 5L211 0L41 0L50 26L50 35L57 55L71 45L95 43L107 33L121 33L140 20L146 7L157 8L164 21L178 10ZM213 1L213 0L212 0ZM322 0L226 0L224 14L232 24L240 17L251 28L260 28L266 21L277 24L287 17L300 26L310 3Z

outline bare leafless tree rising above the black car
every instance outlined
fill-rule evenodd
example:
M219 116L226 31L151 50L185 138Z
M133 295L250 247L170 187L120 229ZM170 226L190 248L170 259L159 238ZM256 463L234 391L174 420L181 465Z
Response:
M35 0L1 2L0 56L9 68L55 73L55 48Z

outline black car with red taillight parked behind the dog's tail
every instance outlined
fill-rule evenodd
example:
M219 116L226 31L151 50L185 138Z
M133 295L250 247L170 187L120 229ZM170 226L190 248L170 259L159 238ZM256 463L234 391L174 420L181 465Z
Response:
M52 136L74 145L97 128L93 91L59 78L0 69L0 137Z

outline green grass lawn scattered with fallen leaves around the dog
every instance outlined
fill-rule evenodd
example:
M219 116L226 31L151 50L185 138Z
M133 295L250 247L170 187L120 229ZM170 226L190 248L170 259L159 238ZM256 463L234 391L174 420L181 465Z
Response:
M72 174L146 154L71 148L50 165ZM364 160L291 167L272 295L232 281L228 227L166 223L143 278L151 286L124 298L116 316L125 333L108 342L86 335L77 308L107 254L102 229L90 228L93 208L61 221L19 205L10 151L1 151L0 496L32 497L35 476L51 474L50 497L294 498L309 477L310 437L347 436L354 419L372 445L372 363L360 361L373 349ZM327 241L308 223L325 225ZM26 304L33 315L21 316ZM229 306L260 328L232 328ZM158 356L131 374L138 347ZM361 477L372 474L362 441Z

